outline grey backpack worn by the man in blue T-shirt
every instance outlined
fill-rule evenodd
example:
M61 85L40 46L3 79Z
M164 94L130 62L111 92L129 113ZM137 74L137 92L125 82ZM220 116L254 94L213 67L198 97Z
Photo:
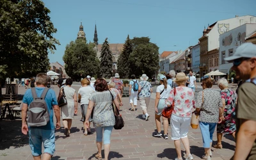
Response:
M28 126L40 127L49 122L50 116L45 102L45 95L48 90L49 88L45 87L41 97L37 97L35 88L31 88L33 101L28 106Z

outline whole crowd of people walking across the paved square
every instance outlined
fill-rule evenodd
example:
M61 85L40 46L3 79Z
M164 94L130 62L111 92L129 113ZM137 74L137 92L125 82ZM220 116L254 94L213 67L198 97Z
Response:
M196 81L193 72L186 76L183 72L175 74L171 70L169 74L159 74L159 86L156 89L155 121L157 132L155 137L162 137L168 140L168 124L170 124L170 137L174 141L177 157L181 160L180 141L186 150L186 159L193 159L190 152L188 132L191 125L191 116L199 116L198 125L202 134L204 156L202 159L210 160L211 147L223 148L221 140L223 134L230 134L236 140L236 151L232 160L253 160L256 159L256 45L245 43L239 46L233 56L225 60L233 62L232 70L236 71L236 79L243 79L239 86L238 94L228 88L228 81L225 78L218 79L220 91L212 89L212 79L209 76L202 77L203 90L198 92L195 99ZM140 81L132 75L129 83L129 103L131 111L135 111L140 102L142 117L146 121L150 117L147 112L150 104L152 85L147 81L148 76L143 74ZM36 93L40 95L47 86L46 74L36 76ZM102 141L104 143L104 158L108 159L110 151L110 140L115 115L113 108L120 109L123 105L123 83L116 73L115 77L107 83L106 79L87 76L81 81L81 88L78 91L72 88L72 79L60 79L58 82L60 94L56 99L50 89L47 92L45 101L50 112L50 121L42 127L28 127L26 114L29 104L33 101L31 90L27 90L23 99L22 108L22 132L29 133L29 145L31 146L34 158L42 154L42 142L45 150L43 157L51 158L55 151L54 147L54 124L53 111L56 116L56 129L60 128L60 116L64 126L65 136L70 136L72 118L77 114L78 102L80 102L84 135L91 134L90 123L93 123L96 131L97 159L102 159ZM65 95L67 104L58 107L58 100ZM164 116L162 111L172 108L170 118ZM161 131L161 117L163 120L163 135ZM49 129L49 133L42 134L43 129ZM28 132L29 131L29 132ZM212 136L216 131L217 143L212 144ZM36 136L34 135L36 134ZM47 143L45 143L47 141ZM40 144L40 145L39 145Z

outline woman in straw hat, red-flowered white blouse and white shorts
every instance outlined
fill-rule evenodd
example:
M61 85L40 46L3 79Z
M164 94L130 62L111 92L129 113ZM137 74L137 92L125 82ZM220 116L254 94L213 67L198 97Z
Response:
M171 116L171 136L178 155L175 160L182 159L180 140L186 149L186 160L193 159L190 153L188 130L191 122L192 109L195 109L195 100L193 90L185 85L186 81L188 81L188 77L183 72L178 73L175 79L175 83L178 86L172 89L166 100L168 107L172 107L174 102Z

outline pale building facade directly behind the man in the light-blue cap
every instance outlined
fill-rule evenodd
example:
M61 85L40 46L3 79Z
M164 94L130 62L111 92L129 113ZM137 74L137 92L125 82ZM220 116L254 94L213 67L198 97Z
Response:
M220 35L220 72L229 74L232 63L228 63L224 60L229 56L232 56L239 45L246 42L246 37L253 35L256 31L255 24L243 24L235 29L232 29L226 33ZM255 35L256 36L256 35Z

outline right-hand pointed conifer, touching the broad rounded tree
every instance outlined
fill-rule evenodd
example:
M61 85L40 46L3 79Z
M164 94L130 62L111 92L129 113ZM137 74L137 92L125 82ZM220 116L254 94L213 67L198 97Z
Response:
M121 77L129 77L130 74L130 63L129 56L132 52L132 45L129 35L127 36L124 44L124 49L118 57L117 61L117 72ZM131 76L131 75L130 75Z

